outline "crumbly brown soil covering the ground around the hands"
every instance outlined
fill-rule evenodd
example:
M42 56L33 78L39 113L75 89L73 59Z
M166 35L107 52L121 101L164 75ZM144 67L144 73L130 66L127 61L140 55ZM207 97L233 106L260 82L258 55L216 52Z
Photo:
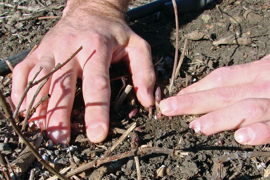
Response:
M142 1L134 1L132 6L143 3ZM180 77L174 82L174 93L205 77L217 67L251 62L262 58L270 52L270 44L268 43L270 40L269 1L226 0L223 2L216 1L216 3L217 6L215 3L210 3L203 10L179 15L180 36L195 30L201 30L207 33L212 40L189 41L180 70ZM61 4L61 1L54 1L51 6L58 7ZM20 5L34 6L36 1L24 1ZM62 10L63 8L48 10L42 16L59 16ZM15 11L12 8L1 7L0 14L5 12L7 14L1 17L12 15ZM32 48L34 44L39 44L44 34L57 22L57 19L38 20L32 18L15 22L13 27L5 28L8 19L0 19L2 23L0 32L1 60ZM131 23L130 27L151 45L153 59L163 58L158 64L158 82L156 86L160 86L165 93L174 61L176 37L174 18L167 17L163 13L154 14ZM251 38L252 43L256 46L212 45L213 40L236 34ZM181 53L181 48L184 46L184 40L184 37L179 39L179 53ZM198 60L202 63L189 64L196 63ZM125 72L111 73L112 78L121 75L125 75ZM128 84L130 78L127 79ZM79 81L78 85L80 85ZM10 87L10 85L7 86ZM121 81L116 80L111 83L111 86L111 101L113 104L122 84ZM81 95L76 96L75 102L77 103L74 105L71 116L71 153L67 153L66 148L61 145L54 145L52 148L46 147L45 142L48 139L45 134L40 147L40 153L46 156L48 161L53 163L59 170L70 165L73 168L80 167L86 162L102 157L104 152L91 151L95 148L111 147L121 136L121 134L114 134L110 131L106 141L98 146L89 141L81 142L82 138L86 138L82 118L84 107ZM135 108L139 110L137 116L133 117L126 125L122 125L121 121ZM142 132L137 132L137 136L140 138L140 146L152 141L155 147L176 148L188 152L188 155L183 158L162 153L139 156L143 179L264 179L265 167L263 167L263 164L267 162L268 157L263 153L270 151L270 149L263 148L263 146L240 145L234 140L234 131L225 131L212 136L195 134L193 130L188 128L187 124L198 116L178 116L172 119L165 117L163 120L156 120L154 117L148 118L148 111L144 110L138 103L137 106L132 107L130 98L123 102L117 113L112 111L111 114L111 128L126 129L133 121L136 121L138 126L141 126ZM0 122L1 142L3 142L7 126L8 123L3 118ZM27 135L31 139L30 133ZM133 141L132 136L127 137L112 155L130 151L131 141ZM12 162L18 157L22 148L18 146L18 137L14 135L8 145L11 151L7 155L3 155L7 156ZM257 153L254 153L255 155L252 155L252 157L248 157L244 152ZM70 155L73 157L71 163L69 160ZM55 160L56 158L59 161ZM221 158L224 159L220 160ZM135 163L129 163L130 160L132 158L123 158L106 163L101 167L91 168L90 171L85 171L85 174L77 176L81 179L137 179L136 168L132 166ZM131 171L128 170L129 165L132 166ZM167 172L161 173L161 177L157 177L154 172L162 165L167 167ZM46 169L35 161L21 179L29 179L30 171L34 168L37 170L35 179L46 178ZM52 175L49 174L49 176Z

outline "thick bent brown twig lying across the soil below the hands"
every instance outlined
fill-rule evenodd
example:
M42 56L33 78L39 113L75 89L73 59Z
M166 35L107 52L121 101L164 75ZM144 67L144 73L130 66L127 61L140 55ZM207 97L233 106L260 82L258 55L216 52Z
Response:
M101 164L107 163L107 162L112 162L118 159L122 159L125 157L131 157L131 156L137 156L137 155L145 155L147 153L162 153L162 154L169 154L169 155L173 155L176 157L184 157L186 155L188 155L187 152L183 152L182 150L175 150L175 149L167 149L167 148L159 148L159 147L151 147L148 145L143 145L137 149L128 151L128 152L123 152L114 156L110 156L110 157L103 157L101 159L98 160L94 160L91 162L88 162L70 172L68 172L66 174L66 177L70 177L73 176L74 174L77 174L79 172L85 171L87 169L90 169L91 167L98 167Z

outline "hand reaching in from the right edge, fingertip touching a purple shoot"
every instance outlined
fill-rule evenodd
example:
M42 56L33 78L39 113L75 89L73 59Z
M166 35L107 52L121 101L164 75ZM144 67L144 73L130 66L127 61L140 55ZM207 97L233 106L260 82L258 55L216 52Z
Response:
M215 69L205 78L162 100L166 116L205 114L189 126L212 135L236 130L241 144L270 143L270 54L261 60Z

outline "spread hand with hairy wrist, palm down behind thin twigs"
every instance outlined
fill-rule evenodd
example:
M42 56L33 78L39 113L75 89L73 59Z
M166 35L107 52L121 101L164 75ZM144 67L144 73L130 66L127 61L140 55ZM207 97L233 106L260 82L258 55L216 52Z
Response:
M83 47L68 64L53 74L40 91L36 102L47 93L51 98L39 106L29 121L42 130L46 129L54 143L70 141L70 114L77 78L82 79L87 136L95 143L106 138L111 63L125 61L139 102L145 107L154 103L155 73L150 46L125 23L119 2L68 1L62 19L46 34L34 53L14 68L11 96L17 105L27 82L40 66L43 69L36 79ZM34 86L29 90L22 109L28 108L36 89Z

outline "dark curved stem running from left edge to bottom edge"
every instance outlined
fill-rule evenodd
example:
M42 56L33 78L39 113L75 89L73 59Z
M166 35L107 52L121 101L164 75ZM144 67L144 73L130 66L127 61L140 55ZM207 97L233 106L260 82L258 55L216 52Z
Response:
M29 147L29 149L31 150L31 152L34 154L34 156L37 158L37 160L44 166L46 167L49 172L57 175L61 180L68 180L65 176L63 176L62 174L60 174L55 168L51 167L49 165L48 161L45 161L44 159L42 159L42 157L40 156L40 154L35 150L35 148L26 140L25 136L23 135L23 133L20 131L19 127L16 125L16 122L14 121L14 118L12 116L12 112L10 111L10 109L8 108L7 102L5 100L5 97L3 95L3 93L0 93L0 104L5 112L5 116L8 119L8 121L11 122L11 125L14 129L14 131L18 134L18 136L23 140L23 142L26 144L26 146Z

